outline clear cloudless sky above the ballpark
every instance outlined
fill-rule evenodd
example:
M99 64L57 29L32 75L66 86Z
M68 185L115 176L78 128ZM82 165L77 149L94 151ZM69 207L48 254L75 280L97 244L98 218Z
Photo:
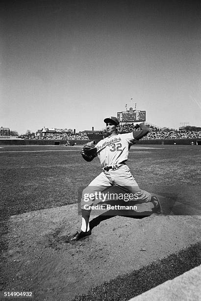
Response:
M0 126L100 130L131 98L147 122L201 126L199 1L0 6Z

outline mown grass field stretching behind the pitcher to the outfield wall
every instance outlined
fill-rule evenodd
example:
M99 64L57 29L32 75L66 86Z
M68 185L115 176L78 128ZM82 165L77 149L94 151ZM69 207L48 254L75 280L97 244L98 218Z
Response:
M200 155L200 146L133 146L127 165L142 189L175 198L185 215L199 215ZM85 162L76 146L2 147L0 169L1 252L8 248L10 216L74 204L78 188L101 172L98 158ZM80 300L103 300L93 294Z

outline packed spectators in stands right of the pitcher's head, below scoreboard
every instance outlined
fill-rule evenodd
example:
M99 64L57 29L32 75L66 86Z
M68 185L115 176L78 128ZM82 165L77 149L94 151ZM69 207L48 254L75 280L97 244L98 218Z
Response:
M149 128L149 133L143 139L187 139L201 138L201 131L179 131L175 129L161 129L156 126L146 124ZM134 123L125 123L119 127L120 133L129 133L135 131Z

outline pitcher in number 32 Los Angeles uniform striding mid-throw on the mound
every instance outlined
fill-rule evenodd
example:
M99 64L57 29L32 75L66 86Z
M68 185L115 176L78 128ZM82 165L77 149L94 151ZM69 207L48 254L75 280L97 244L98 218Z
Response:
M139 139L148 134L148 127L144 123L141 123L136 126L139 130L131 133L119 134L117 129L119 121L116 117L106 118L104 122L106 123L108 137L97 143L97 154L90 156L89 158L86 158L86 156L82 154L86 161L91 161L98 155L102 172L82 192L81 231L77 232L70 241L77 241L83 237L91 235L91 229L89 228L91 210L86 210L84 195L101 192L108 186L118 185L126 187L126 189L133 195L137 194L138 200L141 202L152 202L157 212L160 212L160 205L157 198L155 196L151 196L151 193L139 188L125 163L128 158L130 146L137 143ZM89 208L93 205L94 200L95 199L92 199L87 202Z

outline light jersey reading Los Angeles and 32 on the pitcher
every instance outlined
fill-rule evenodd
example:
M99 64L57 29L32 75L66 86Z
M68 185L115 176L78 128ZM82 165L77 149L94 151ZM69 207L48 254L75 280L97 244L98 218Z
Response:
M126 161L129 148L137 142L138 140L133 138L132 132L102 139L96 145L101 167L112 166Z

